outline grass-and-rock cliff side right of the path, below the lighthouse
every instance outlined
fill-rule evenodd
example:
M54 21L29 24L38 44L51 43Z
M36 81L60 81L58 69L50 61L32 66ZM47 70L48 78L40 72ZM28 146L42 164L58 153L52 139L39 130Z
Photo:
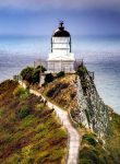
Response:
M43 94L71 115L82 136L81 164L119 164L120 116L100 98L84 66L76 74L65 74L46 84Z

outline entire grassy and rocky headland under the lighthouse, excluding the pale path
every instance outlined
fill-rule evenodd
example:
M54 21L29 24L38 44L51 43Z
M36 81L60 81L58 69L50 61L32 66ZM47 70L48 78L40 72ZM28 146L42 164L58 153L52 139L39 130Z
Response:
M26 70L27 89L15 81L0 84L0 162L64 163L68 133L53 110L28 92L33 89L68 113L82 139L77 163L119 164L120 116L100 98L86 67L46 74L40 87L39 68Z

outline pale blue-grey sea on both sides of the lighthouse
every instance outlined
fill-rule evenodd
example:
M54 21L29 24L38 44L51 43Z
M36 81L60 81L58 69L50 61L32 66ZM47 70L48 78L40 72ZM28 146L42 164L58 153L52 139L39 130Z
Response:
M12 79L26 66L46 58L50 36L0 37L0 82ZM95 72L95 84L104 102L120 114L120 37L72 36L72 51Z

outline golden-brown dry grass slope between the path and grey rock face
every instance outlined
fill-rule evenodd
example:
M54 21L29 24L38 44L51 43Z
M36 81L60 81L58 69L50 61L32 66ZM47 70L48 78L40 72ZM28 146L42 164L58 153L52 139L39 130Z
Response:
M69 110L76 106L75 74L65 74L45 85L43 94L53 104Z

